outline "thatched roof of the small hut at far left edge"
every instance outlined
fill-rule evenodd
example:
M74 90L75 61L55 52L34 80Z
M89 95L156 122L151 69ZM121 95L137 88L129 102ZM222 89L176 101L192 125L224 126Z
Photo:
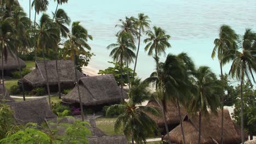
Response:
M26 67L26 63L20 59L20 65L21 68L25 68ZM12 51L8 51L8 57L7 57L7 62L5 63L4 60L4 70L13 70L13 69L19 69L19 64L17 61L16 56L14 55L14 53ZM2 69L2 58L0 58L0 69Z

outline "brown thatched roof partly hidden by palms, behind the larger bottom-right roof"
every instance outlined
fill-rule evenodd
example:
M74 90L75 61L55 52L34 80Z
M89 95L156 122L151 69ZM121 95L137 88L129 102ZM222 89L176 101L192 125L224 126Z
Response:
M156 103L156 101L154 101L154 100L148 101L147 106L154 106L157 109L161 110L161 107L159 106L159 104ZM166 109L167 124L168 125L177 125L177 124L179 124L179 111L178 111L178 108L176 107L176 105L174 105L172 103L172 101L168 101L166 103L166 107L167 107L167 109ZM182 119L185 116L185 113L186 112L181 107L181 117L182 117ZM148 114L148 115L158 124L159 127L165 127L165 121L164 121L164 118L162 116L154 116L154 115L150 115L150 114Z

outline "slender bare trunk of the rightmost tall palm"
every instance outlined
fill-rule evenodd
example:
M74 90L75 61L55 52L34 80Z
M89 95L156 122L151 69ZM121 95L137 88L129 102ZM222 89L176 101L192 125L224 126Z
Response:
M244 143L245 135L243 134L243 75L245 73L243 69L243 64L245 64L245 61L242 61L241 65L241 84L240 84L240 94L241 94L241 139L242 144Z

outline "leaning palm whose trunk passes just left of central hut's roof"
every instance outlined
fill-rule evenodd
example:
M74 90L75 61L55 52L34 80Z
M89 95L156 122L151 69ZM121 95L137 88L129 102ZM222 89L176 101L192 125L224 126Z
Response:
M78 85L77 69L75 68L75 58L80 53L80 51L85 52L85 49L91 50L91 47L88 45L87 41L88 38L92 40L92 36L89 35L88 31L79 23L80 22L72 23L71 33L68 35L69 39L65 42L65 46L71 48L70 58L74 61L75 82L77 83L82 121L84 121L84 110Z

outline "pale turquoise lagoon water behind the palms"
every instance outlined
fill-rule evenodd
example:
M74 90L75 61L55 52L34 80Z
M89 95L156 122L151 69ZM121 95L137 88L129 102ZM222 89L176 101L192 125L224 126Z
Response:
M19 2L28 13L29 1ZM46 13L51 14L55 8L56 3L51 0ZM211 53L219 27L222 24L230 25L238 34L243 34L248 27L256 31L255 0L69 0L68 4L59 8L65 9L72 21L80 21L94 37L89 44L96 55L90 62L95 69L105 69L109 66L107 61L112 61L106 46L116 42L118 28L114 26L125 16L137 16L138 13L148 15L152 27L162 27L172 37L172 47L166 53L187 52L197 67L208 65L217 74L219 64L217 59L211 58ZM32 20L33 17L34 10ZM147 56L144 46L142 43L137 65L138 76L143 79L155 68L153 58ZM162 56L161 61L164 59ZM224 67L226 73L229 67L230 64Z

